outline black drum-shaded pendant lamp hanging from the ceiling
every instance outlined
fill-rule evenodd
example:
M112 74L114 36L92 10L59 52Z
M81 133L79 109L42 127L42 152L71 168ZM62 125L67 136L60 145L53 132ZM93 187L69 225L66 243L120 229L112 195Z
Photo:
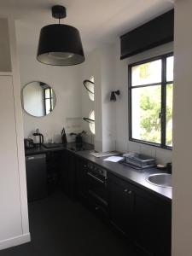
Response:
M77 28L60 24L66 17L66 8L52 7L52 16L59 24L44 26L38 43L38 61L53 66L72 66L84 62L84 50Z

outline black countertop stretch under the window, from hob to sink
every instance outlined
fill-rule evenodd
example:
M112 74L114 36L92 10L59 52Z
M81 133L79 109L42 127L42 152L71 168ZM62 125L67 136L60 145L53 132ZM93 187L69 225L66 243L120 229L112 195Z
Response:
M163 197L168 201L172 200L171 188L163 188L163 187L155 186L146 181L146 177L148 177L148 175L150 174L164 173L163 171L158 170L155 167L150 167L143 170L136 170L134 168L131 168L130 166L125 166L118 162L114 163L114 162L104 161L103 159L107 157L96 158L95 156L90 154L90 151L79 151L79 152L76 152L76 154L86 160L90 160L93 163L96 163L97 165L102 166L103 168L107 169L109 172L127 180L130 183L133 183L143 189L149 190L154 195L160 195L161 197Z

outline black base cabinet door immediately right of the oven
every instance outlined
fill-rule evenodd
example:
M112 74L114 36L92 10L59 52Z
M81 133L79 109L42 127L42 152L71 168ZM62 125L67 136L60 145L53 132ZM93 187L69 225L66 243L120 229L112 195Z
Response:
M109 174L108 188L111 222L118 230L131 237L133 196L130 184Z

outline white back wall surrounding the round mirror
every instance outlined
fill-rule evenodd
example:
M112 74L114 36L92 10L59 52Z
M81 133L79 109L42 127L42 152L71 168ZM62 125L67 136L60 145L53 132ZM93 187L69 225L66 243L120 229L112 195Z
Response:
M61 140L61 129L67 126L67 118L81 117L82 81L79 81L79 66L54 67L36 60L39 30L30 23L16 22L17 42L20 57L21 87L31 81L49 84L55 90L56 105L48 116L35 118L23 111L25 137L38 128L45 141Z

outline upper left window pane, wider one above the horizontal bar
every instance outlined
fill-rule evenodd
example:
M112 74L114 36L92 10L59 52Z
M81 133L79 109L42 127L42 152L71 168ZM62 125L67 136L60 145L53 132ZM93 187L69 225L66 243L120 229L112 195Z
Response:
M132 86L161 82L161 60L150 61L131 68Z

